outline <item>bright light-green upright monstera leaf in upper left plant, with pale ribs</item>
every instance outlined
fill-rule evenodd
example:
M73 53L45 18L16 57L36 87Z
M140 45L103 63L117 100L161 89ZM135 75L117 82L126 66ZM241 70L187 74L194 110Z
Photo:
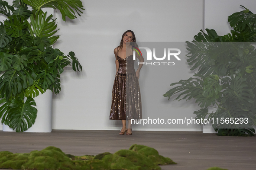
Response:
M36 17L34 18L33 15L30 16L31 22L27 24L29 25L29 32L32 36L37 37L47 37L50 38L51 44L56 42L59 36L53 36L58 29L57 24L55 24L55 19L52 19L52 15L46 18L46 13L39 11L36 12ZM52 20L52 21L51 21Z

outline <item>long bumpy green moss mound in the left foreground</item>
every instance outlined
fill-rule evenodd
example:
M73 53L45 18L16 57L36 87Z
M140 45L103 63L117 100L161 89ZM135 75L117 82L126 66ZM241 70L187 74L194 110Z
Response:
M154 148L134 144L129 150L74 156L50 146L25 154L0 152L0 169L19 170L161 170L157 165L176 164Z

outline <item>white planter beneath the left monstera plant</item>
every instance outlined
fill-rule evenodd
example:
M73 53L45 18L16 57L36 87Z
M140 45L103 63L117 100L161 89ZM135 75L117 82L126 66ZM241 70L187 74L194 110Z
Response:
M24 132L52 132L52 91L46 90L45 93L35 97L34 100L37 109L36 122ZM13 129L10 129L9 126L4 124L3 131L14 132Z

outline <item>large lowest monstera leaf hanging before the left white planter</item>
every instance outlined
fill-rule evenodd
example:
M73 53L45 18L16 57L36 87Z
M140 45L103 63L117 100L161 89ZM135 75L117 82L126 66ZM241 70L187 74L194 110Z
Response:
M36 102L31 97L28 97L25 103L23 100L19 97L8 103L9 105L6 106L8 108L5 109L6 112L2 117L2 123L16 132L26 131L36 120L37 109L33 107L36 106Z

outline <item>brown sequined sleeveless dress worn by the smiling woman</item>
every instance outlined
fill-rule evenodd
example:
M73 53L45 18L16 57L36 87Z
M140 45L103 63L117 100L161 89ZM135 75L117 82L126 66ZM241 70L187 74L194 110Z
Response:
M139 81L134 69L133 55L117 56L119 69L115 77L109 119L142 119Z

